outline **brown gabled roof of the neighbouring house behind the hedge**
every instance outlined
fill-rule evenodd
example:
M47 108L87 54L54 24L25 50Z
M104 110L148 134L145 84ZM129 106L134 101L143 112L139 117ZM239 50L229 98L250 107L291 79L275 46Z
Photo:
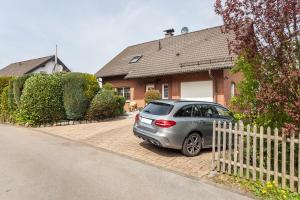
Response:
M31 60L25 60L21 62L12 63L3 69L0 69L0 76L21 76L23 74L28 74L33 70L37 69L38 67L44 65L50 60L54 60L55 56L46 56ZM59 64L61 64L65 71L70 71L60 59L57 60Z

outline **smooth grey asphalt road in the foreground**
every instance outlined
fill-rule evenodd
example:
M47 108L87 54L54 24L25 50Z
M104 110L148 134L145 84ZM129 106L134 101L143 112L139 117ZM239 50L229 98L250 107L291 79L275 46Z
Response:
M78 142L0 125L0 199L248 198Z

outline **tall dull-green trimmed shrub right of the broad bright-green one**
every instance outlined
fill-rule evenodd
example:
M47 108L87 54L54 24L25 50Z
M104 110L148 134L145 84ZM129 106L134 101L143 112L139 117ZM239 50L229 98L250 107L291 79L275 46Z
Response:
M89 100L85 96L86 79L81 73L63 75L63 102L67 119L82 119L88 107Z

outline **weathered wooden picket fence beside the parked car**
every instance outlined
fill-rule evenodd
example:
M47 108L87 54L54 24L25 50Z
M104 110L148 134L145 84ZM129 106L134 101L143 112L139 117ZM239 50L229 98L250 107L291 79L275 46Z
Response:
M212 170L261 181L275 181L300 193L299 134L278 129L214 122ZM290 149L290 151L288 151Z

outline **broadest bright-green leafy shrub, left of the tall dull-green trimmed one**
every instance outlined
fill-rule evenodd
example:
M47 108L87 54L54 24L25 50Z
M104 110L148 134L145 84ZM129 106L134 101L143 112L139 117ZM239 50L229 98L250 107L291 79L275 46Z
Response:
M64 118L60 74L35 74L25 82L17 120L41 124Z

